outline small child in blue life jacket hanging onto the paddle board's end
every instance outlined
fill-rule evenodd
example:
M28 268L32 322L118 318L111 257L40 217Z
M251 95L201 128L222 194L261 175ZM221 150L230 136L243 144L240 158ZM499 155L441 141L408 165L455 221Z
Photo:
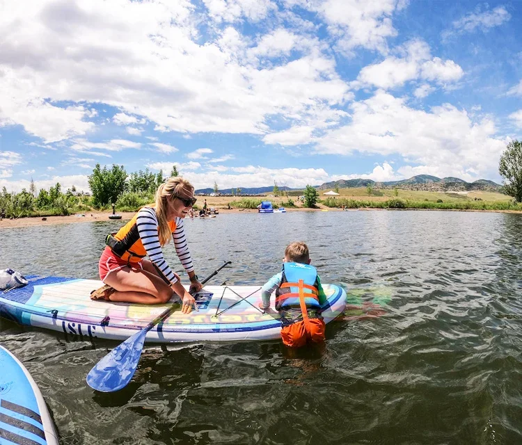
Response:
M304 346L308 341L324 341L325 323L321 307L326 295L315 267L310 266L308 246L297 241L285 249L283 268L264 284L259 307L270 307L270 296L276 291L276 310L283 325L281 338L286 346Z

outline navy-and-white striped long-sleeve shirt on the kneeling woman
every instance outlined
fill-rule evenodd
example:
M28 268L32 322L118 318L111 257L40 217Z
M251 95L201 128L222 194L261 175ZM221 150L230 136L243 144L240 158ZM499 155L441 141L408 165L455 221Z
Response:
M194 270L192 258L187 245L187 238L185 238L184 224L182 218L176 218L176 229L172 234L174 239L174 247L176 249L177 257L180 258L181 264L187 273ZM138 233L147 252L150 261L157 268L157 270L164 276L165 280L174 284L177 282L177 277L171 270L170 266L163 255L163 250L159 244L158 236L158 218L155 209L151 207L143 207L138 212L136 218L136 225Z

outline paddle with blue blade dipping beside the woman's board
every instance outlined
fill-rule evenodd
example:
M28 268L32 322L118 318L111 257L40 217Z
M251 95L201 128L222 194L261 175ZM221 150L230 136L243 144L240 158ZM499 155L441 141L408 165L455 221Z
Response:
M206 277L201 284L205 284L208 280L217 275L219 270L231 263L232 261L226 261L223 266L214 270L214 272ZM163 321L171 315L176 307L177 303L159 314L159 316L152 320L148 325L143 327L142 330L136 332L132 337L129 337L123 343L116 346L116 348L111 350L111 352L103 357L100 362L97 362L87 375L88 385L91 388L102 392L118 391L118 389L125 387L136 372L147 332L149 332L152 327L155 327L155 325L160 321Z

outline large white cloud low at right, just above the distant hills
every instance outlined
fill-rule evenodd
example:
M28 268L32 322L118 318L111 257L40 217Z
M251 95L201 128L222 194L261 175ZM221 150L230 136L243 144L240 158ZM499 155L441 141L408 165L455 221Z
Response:
M416 110L383 91L351 105L351 123L332 129L317 152L390 156L429 165L439 174L473 179L495 176L506 140L496 137L492 120L472 120L450 104ZM460 176L459 176L460 175ZM475 176L475 179L478 179Z

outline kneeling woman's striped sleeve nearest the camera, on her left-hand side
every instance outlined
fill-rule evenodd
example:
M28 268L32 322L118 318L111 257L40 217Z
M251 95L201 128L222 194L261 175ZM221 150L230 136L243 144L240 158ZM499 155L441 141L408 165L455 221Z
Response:
M168 266L163 256L161 245L159 244L156 211L150 207L143 207L143 209L138 212L136 225L145 252L147 252L150 261L152 261L160 277L162 277L166 283L174 284L177 282L177 277Z

